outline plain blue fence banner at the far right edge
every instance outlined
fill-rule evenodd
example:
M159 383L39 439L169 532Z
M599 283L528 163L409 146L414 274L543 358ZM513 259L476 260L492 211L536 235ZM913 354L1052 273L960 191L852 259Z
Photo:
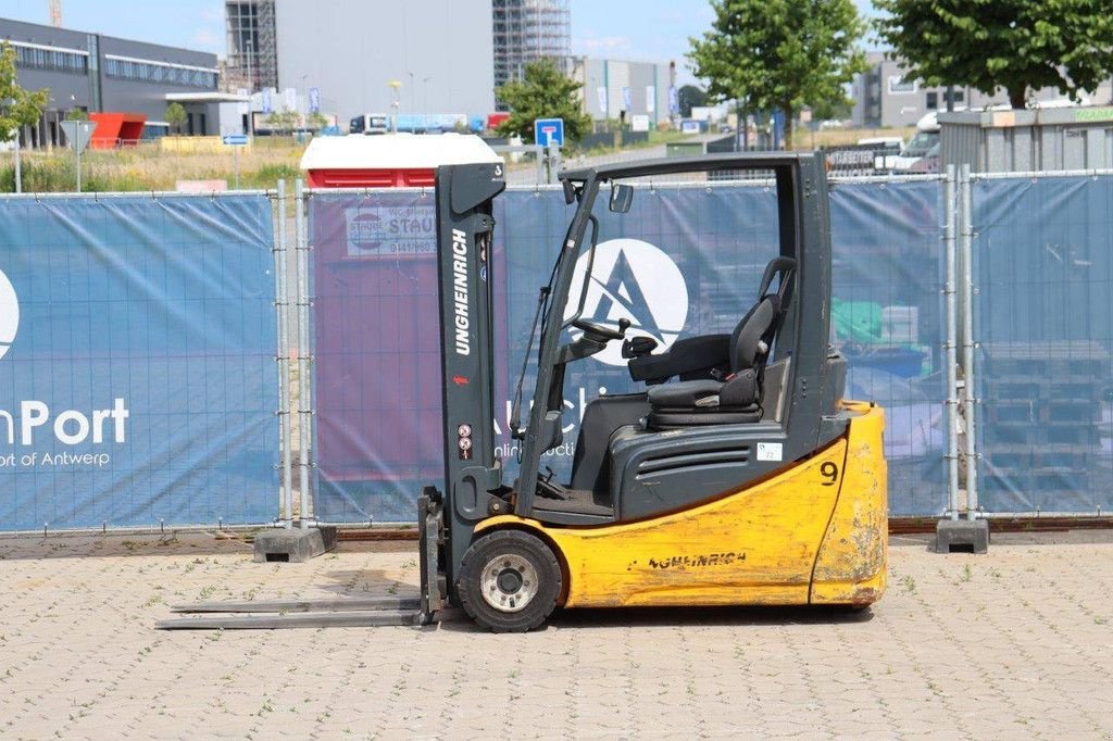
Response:
M1113 508L1113 177L973 186L981 504Z

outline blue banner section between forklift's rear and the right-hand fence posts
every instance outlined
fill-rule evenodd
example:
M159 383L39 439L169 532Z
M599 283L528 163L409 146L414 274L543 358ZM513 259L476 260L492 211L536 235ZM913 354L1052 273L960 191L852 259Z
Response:
M893 515L937 515L947 503L943 224L938 181L831 190L835 337L847 396L885 408Z

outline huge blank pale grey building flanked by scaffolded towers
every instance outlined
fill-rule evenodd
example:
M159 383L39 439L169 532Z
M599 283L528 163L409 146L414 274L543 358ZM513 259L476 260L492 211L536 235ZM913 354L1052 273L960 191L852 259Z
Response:
M226 0L225 16L226 89L316 88L341 121L484 115L526 62L571 53L569 0Z

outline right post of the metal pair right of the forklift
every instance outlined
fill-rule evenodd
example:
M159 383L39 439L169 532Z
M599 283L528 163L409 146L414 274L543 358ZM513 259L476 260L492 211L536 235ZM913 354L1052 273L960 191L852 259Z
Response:
M971 166L962 165L958 170L958 248L962 250L962 319L963 319L963 416L966 418L966 446L964 463L966 472L966 516L977 517L977 441L975 436L974 409L976 384L974 374L974 217Z

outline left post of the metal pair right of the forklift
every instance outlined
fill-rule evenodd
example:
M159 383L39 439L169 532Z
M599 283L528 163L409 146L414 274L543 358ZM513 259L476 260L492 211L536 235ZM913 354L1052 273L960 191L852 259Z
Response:
M943 295L946 309L946 339L944 364L947 368L947 514L958 520L958 310L956 302L957 255L955 249L955 166L947 165L943 178L943 251L946 256L946 277Z

